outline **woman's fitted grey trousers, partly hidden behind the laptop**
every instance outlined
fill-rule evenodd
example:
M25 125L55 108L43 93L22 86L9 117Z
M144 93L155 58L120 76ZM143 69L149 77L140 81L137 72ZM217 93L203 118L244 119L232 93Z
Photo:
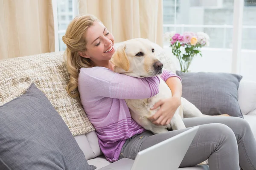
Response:
M204 117L183 119L186 127L199 125L180 167L191 167L209 159L210 170L256 170L256 141L246 120L237 117ZM119 159L134 159L147 147L185 130L153 135L145 131L127 139Z

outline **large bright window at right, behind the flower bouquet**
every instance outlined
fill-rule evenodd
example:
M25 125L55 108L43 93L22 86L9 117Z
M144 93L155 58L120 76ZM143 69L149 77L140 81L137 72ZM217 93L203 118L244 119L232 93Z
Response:
M193 72L231 72L256 81L255 16L256 0L163 0L164 33L203 31L210 37L203 57L192 62ZM172 55L169 42L164 49Z

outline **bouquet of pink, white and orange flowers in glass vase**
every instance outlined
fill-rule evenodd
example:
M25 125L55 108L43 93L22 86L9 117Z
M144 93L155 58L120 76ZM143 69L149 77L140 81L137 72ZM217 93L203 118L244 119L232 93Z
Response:
M209 36L204 32L184 32L178 34L175 32L166 32L164 39L170 42L172 53L180 62L180 69L186 73L195 55L202 56L200 48L209 46Z

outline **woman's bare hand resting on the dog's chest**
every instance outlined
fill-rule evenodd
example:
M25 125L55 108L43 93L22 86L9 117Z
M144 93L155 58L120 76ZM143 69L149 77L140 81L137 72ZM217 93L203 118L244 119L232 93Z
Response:
M157 109L160 106L160 109L153 116L149 118L152 123L155 125L168 125L172 117L180 106L181 99L180 97L172 96L169 99L163 99L157 102L152 110Z

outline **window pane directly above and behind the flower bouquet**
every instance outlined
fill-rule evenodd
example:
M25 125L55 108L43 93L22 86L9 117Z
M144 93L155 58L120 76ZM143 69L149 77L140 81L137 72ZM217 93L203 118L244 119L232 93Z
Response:
M232 47L233 0L163 0L164 32L205 32L210 47Z

